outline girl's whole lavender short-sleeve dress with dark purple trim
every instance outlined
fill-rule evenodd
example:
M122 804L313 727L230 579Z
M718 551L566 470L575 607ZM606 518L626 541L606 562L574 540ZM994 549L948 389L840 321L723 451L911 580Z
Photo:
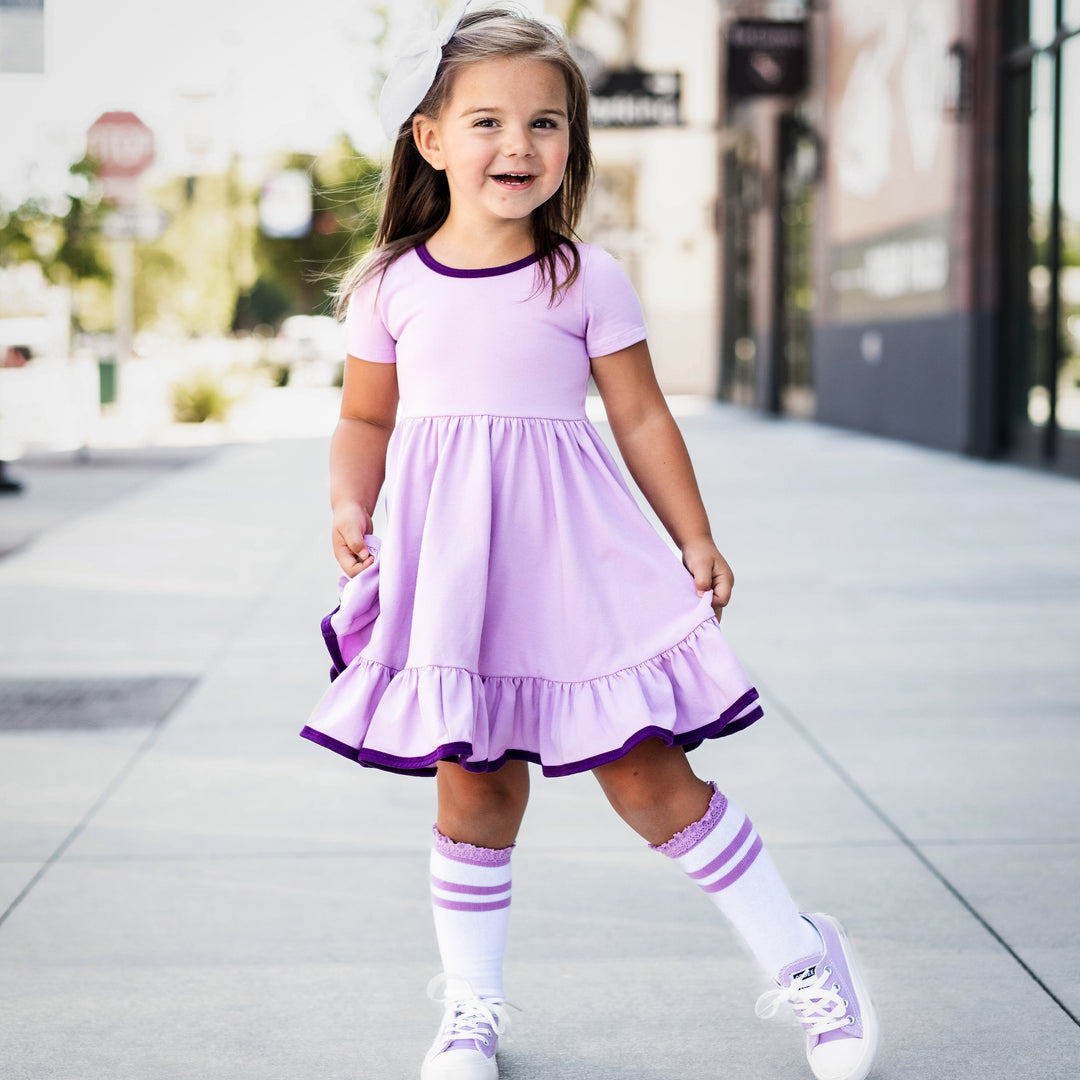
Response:
M644 339L610 255L579 244L554 303L535 257L445 267L418 247L352 296L351 355L396 363L386 527L323 621L332 683L305 738L433 775L565 775L761 715L677 555L586 419L590 357Z

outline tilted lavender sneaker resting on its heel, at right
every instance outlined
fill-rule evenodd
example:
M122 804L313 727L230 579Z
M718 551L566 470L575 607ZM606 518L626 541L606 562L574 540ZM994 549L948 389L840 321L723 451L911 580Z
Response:
M780 988L762 994L767 1020L785 1002L807 1032L807 1061L818 1080L865 1080L878 1048L878 1021L843 927L829 915L804 915L825 951L780 973Z

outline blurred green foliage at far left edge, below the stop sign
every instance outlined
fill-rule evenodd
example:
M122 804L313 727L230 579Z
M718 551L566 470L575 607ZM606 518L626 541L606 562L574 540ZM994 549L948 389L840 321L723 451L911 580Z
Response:
M68 170L77 193L50 206L27 199L12 211L0 205L0 266L36 262L54 285L111 280L102 225L108 210L93 194L96 166L89 158Z

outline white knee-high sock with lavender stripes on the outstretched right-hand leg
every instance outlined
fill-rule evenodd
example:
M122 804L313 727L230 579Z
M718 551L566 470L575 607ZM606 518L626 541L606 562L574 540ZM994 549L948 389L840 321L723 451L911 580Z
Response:
M799 914L751 820L713 784L701 821L654 851L674 859L731 920L770 978L822 951L818 931Z

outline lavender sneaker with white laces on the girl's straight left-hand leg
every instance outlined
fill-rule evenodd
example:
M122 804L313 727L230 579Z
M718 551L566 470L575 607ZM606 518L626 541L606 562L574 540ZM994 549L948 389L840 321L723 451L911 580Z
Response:
M445 1005L420 1080L499 1080L499 1036L510 1027L507 1002L480 998L461 978L436 975L428 995Z

